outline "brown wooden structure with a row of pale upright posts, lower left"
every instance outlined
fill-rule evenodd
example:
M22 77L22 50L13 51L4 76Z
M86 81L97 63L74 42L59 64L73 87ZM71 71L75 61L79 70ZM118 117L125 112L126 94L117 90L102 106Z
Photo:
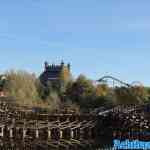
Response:
M94 137L95 127L95 115L39 113L0 101L0 148L79 149L89 145L82 141Z

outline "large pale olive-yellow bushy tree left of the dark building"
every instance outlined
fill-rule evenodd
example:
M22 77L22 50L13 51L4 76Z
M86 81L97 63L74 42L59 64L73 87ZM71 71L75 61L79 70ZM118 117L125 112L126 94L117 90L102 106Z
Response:
M16 99L19 104L34 105L39 100L36 88L36 77L26 71L6 72L7 83L5 91L8 96Z

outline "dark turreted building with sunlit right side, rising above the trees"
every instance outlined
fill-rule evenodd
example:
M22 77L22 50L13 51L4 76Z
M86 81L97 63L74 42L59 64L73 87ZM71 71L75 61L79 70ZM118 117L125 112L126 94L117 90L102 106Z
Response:
M62 61L59 65L44 64L44 72L40 75L40 81L44 86L51 85L52 87L64 86L63 81L70 78L70 64L65 65Z

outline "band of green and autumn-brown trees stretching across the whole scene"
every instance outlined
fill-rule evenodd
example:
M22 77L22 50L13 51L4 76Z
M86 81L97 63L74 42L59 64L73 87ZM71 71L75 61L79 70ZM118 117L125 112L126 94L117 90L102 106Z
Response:
M64 76L60 89L41 84L39 78L26 71L8 71L1 87L7 96L20 105L44 107L51 111L65 106L76 111L87 111L101 106L112 107L118 104L148 102L150 89L140 86L112 88L107 84L94 84L84 75L67 80Z

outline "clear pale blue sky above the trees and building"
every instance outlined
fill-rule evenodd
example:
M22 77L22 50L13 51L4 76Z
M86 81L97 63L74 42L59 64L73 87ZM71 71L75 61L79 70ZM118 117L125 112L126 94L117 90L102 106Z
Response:
M74 77L150 86L149 0L0 0L0 73L71 63Z

